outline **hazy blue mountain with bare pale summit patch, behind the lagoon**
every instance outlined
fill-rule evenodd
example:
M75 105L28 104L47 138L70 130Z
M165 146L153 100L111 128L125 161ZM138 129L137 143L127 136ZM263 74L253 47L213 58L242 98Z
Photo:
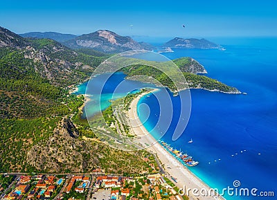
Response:
M69 48L92 48L104 53L154 49L150 44L136 42L131 37L120 36L109 30L98 30L94 33L84 34L63 42L63 44Z

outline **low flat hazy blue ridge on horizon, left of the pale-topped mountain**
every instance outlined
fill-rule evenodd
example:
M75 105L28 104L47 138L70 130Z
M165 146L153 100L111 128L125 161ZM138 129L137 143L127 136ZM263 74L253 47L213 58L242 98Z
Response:
M21 37L36 37L36 38L46 38L46 39L54 39L57 42L64 42L69 39L73 39L77 37L77 35L72 34L64 34L64 33L55 33L55 32L30 32L19 34Z

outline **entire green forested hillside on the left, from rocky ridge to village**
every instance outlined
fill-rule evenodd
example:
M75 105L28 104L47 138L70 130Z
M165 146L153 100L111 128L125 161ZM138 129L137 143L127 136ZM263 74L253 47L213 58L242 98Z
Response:
M94 137L87 123L78 121L84 98L65 88L89 78L106 57L0 28L0 172L148 171L147 152L83 139Z

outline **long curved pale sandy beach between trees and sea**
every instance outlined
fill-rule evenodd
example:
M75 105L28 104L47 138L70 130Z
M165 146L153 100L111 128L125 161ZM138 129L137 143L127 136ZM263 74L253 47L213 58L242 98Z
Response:
M177 179L177 183L175 184L178 188L184 188L184 185L186 185L186 190L188 190L188 188L191 188L191 190L197 188L199 191L209 191L211 188L208 187L206 183L204 183L201 179L195 176L195 174L190 172L188 168L181 164L174 156L172 156L172 154L167 152L166 149L164 149L161 146L161 144L159 144L157 140L155 140L153 136L142 125L141 120L139 120L139 116L137 115L136 108L139 99L147 95L148 93L150 93L150 91L142 93L137 98L135 98L130 104L130 109L128 111L132 131L134 131L134 134L136 134L136 143L139 143L141 146L145 147L145 149L148 149L148 151L157 155L159 161L164 166L166 176L173 176L175 177L175 179ZM202 194L200 194L200 192L197 192L199 196L194 196L191 193L192 192L190 191L188 195L190 199L224 199L223 197L204 197L202 196Z

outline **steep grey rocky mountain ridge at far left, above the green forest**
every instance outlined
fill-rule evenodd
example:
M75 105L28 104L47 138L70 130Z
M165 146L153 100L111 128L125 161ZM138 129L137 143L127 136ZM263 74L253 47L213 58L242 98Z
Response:
M1 66L0 78L17 77L28 72L39 74L60 87L89 78L93 67L100 64L99 57L77 53L53 39L24 38L2 27L0 53L1 59L6 57L5 62L17 63L12 68Z

